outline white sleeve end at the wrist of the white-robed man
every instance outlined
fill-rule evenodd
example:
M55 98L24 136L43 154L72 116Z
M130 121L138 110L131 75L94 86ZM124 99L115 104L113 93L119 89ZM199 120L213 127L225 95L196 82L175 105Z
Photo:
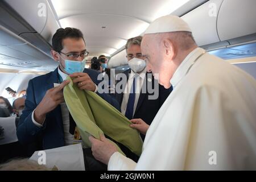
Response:
M114 152L109 159L108 171L133 171L137 163L126 158L119 152Z

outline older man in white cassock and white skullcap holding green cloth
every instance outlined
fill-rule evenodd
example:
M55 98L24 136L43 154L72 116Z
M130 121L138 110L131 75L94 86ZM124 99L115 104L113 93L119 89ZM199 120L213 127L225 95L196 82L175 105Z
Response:
M174 91L146 133L138 163L104 136L90 137L96 159L108 170L255 170L256 81L241 69L197 47L183 19L167 15L147 28L141 43L147 71Z

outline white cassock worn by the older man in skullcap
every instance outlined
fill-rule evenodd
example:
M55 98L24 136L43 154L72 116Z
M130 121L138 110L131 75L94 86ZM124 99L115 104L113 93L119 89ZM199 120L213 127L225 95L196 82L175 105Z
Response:
M204 52L177 68L138 163L115 152L109 170L256 169L256 81Z

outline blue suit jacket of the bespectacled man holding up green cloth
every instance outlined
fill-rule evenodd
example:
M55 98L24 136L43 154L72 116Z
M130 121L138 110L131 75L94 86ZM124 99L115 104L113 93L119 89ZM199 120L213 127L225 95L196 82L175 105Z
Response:
M97 80L97 76L100 72L92 69L84 69L84 72L88 73L92 81L98 85L100 81ZM46 75L35 77L28 82L25 109L20 117L16 131L20 143L33 143L40 136L40 138L42 138L43 149L64 146L64 131L60 105L47 113L43 127L36 126L32 122L31 116L36 106L42 101L47 90L53 88L53 83L57 82L59 82L57 69ZM97 94L109 102L109 104L120 110L119 104L113 96L106 93Z

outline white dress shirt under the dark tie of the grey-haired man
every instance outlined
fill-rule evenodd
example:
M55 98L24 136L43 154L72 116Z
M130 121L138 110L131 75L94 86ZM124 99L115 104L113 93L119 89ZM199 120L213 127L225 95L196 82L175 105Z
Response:
M144 82L144 78L146 77L146 68L143 69L143 71L141 73L134 73L132 70L131 70L131 73L129 74L129 78L128 78L128 81L127 81L127 84L125 86L125 92L123 93L123 100L122 100L122 104L121 104L121 112L123 115L125 115L125 112L126 112L126 107L127 107L127 103L128 103L128 100L129 100L129 94L130 94L130 91L131 91L131 88L133 87L133 79L134 77L137 77L136 78L136 90L135 90L135 101L134 101L134 107L133 107L133 115L135 113L135 110L136 110L136 107L137 107L137 104L138 104L138 100L139 100L139 94L141 93L141 88L142 88L142 85L143 85L143 82Z

